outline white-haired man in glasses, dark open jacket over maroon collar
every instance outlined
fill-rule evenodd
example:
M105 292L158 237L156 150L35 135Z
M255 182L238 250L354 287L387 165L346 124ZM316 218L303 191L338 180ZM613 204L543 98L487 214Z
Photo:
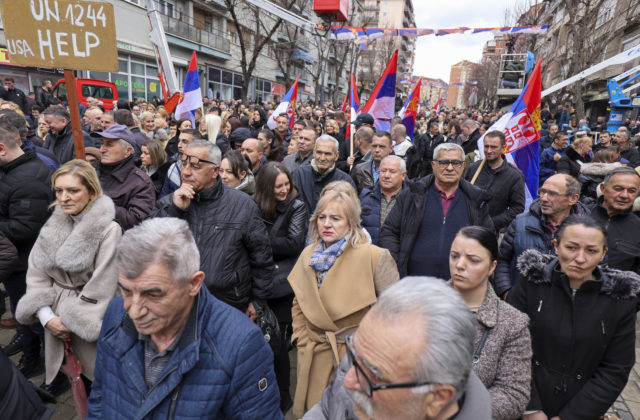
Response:
M379 246L387 248L400 276L449 278L449 249L460 228L493 230L491 196L462 179L464 151L442 143L433 152L433 174L404 189L380 230Z

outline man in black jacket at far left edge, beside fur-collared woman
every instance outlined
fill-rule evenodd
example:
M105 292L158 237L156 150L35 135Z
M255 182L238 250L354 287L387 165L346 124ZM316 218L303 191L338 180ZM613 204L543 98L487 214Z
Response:
M23 151L19 144L17 130L0 127L0 232L18 250L13 274L3 281L12 313L27 290L29 253L49 217L48 206L53 199L49 168L33 150ZM44 371L39 333L42 334L39 324L18 326L16 335L4 349L9 355L24 351L18 368L27 377Z

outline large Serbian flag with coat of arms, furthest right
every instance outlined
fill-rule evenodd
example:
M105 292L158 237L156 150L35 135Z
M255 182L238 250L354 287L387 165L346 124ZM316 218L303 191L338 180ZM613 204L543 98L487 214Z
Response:
M542 90L538 60L531 78L509 112L496 121L489 131L502 131L506 137L504 155L524 174L526 206L538 198L540 172L540 97ZM484 158L484 136L478 140L480 156Z

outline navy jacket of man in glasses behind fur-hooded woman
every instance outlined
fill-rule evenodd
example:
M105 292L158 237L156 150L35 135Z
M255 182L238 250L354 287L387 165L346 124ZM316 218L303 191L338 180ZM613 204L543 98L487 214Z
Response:
M588 213L589 210L580 202L571 207L571 214ZM500 243L498 266L493 275L493 287L498 296L509 291L518 279L516 264L523 252L534 249L544 254L555 254L553 238L540 210L540 201L533 201L528 212L519 214L511 222Z

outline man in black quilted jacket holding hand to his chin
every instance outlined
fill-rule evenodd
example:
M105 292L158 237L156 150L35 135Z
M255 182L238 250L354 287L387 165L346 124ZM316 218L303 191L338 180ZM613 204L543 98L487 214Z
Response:
M220 180L221 160L216 145L189 143L182 157L182 185L158 201L152 217L186 220L209 291L255 319L252 301L267 299L271 292L271 245L257 204Z

